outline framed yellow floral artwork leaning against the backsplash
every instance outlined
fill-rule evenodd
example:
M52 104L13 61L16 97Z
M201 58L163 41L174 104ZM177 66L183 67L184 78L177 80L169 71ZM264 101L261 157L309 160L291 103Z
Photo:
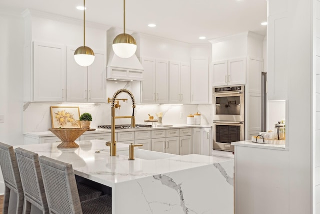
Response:
M81 128L79 107L50 106L52 128Z

